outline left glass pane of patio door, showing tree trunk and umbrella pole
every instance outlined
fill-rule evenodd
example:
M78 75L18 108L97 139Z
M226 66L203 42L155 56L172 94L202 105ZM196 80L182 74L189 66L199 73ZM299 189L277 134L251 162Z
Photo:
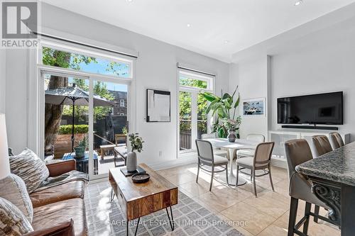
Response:
M89 81L44 74L45 159L76 159L77 170L89 174Z

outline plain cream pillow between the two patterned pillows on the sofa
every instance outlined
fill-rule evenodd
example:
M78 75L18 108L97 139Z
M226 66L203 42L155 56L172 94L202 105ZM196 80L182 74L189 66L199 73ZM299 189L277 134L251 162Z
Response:
M32 223L33 206L26 189L26 184L16 174L10 174L5 179L0 179L0 197L13 203L21 210L27 220Z

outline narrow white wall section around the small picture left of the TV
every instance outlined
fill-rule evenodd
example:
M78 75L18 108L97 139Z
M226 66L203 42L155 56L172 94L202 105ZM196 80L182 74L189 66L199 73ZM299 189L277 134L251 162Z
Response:
M268 101L268 57L239 62L240 114L243 114L244 99L265 98ZM268 137L268 108L265 116L242 116L241 137L251 133Z

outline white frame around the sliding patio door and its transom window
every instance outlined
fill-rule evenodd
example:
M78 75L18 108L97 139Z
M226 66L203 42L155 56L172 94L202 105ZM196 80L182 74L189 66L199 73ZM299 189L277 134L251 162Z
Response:
M44 91L44 84L43 84L43 74L45 73L50 73L50 74L57 74L58 76L72 76L75 75L77 78L81 79L88 79L89 80L89 91L93 91L93 86L95 81L101 81L101 82L111 82L115 84L126 84L128 86L128 94L129 96L127 97L126 104L128 106L126 116L127 120L129 120L129 128L130 130L136 130L136 82L135 82L135 69L136 69L136 58L133 57L116 57L112 55L113 53L107 52L107 57L102 57L102 56L97 56L98 55L98 50L96 49L91 49L87 48L81 45L70 45L70 48L72 50L68 50L68 45L69 43L62 42L59 40L40 40L40 44L38 45L37 50L31 51L31 55L28 56L28 58L31 58L31 64L33 62L36 62L36 64L33 64L33 66L36 66L35 69L35 74L33 72L30 72L30 74L34 74L35 78L37 79L36 83L37 87L35 88L35 95L38 99L35 99L37 106L35 111L34 116L36 116L36 128L35 131L32 131L33 133L37 133L37 142L35 144L36 150L38 150L38 154L40 155L40 158L44 158L44 104L45 104L45 95L43 93ZM54 45L54 46L49 46L49 45ZM53 67L49 65L43 64L43 52L42 52L42 47L52 47L53 49L57 50L65 50L67 52L72 52L72 53L78 53L81 55L86 55L86 56L91 56L91 57L99 57L102 59L107 59L107 60L112 60L112 58L119 58L120 60L118 62L121 62L121 60L124 60L125 63L129 62L131 65L131 77L117 77L114 75L109 75L109 74L97 74L97 73L92 73L92 72L84 72L82 70L76 70L76 69L70 69L70 68L62 68L62 67ZM85 54L82 53L82 51L85 51ZM90 54L89 52L92 52ZM89 54L88 54L89 53ZM102 54L106 54L106 52L102 52ZM29 59L28 59L29 60ZM115 60L116 61L116 60ZM93 94L92 92L89 92L89 94ZM34 99L34 98L33 98ZM93 103L93 98L92 95L89 97L89 101ZM89 106L89 150L93 150L93 126L90 125L93 123L94 119L94 111L93 108L90 108ZM90 135L91 134L91 135ZM30 136L31 134L28 133ZM93 172L93 165L94 165L94 160L92 156L92 152L89 152L89 177L90 179L101 179L101 178L106 178L107 174L99 174L99 175L94 175Z

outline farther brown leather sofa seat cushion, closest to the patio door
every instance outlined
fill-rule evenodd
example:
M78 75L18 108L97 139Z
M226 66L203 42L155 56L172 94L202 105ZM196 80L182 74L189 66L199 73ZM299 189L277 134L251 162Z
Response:
M43 206L71 198L84 198L84 181L70 181L30 194L33 207Z

